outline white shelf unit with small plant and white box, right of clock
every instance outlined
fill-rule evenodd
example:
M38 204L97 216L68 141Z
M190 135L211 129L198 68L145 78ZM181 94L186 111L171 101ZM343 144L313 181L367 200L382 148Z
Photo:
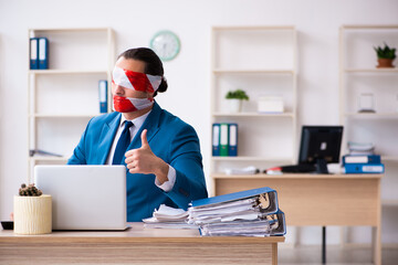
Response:
M211 40L211 121L237 123L238 157L212 157L210 177L227 168L260 170L296 159L296 30L294 26L214 26ZM250 97L230 113L224 95L241 88ZM260 96L281 96L282 114L258 113ZM238 176L245 178L245 176Z

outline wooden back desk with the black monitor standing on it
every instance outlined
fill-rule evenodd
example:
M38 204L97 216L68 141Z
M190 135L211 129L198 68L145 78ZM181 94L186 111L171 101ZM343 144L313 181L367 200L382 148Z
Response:
M213 174L216 195L259 187L277 191L287 225L373 226L374 263L381 265L383 174Z

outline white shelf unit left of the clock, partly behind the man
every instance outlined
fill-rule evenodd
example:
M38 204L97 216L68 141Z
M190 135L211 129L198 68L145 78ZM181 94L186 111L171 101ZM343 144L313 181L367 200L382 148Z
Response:
M49 68L28 66L28 182L35 165L67 161L87 121L100 115L100 80L108 82L108 112L112 107L113 30L29 29L28 49L30 38L41 36L49 40ZM62 157L31 157L32 149Z

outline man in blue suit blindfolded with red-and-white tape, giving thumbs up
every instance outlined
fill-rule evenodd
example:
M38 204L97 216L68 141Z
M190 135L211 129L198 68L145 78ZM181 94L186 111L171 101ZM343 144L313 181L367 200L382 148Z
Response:
M154 100L167 89L159 57L150 49L127 50L112 83L116 112L90 120L67 163L126 165L128 222L151 216L160 204L187 209L207 198L195 129Z

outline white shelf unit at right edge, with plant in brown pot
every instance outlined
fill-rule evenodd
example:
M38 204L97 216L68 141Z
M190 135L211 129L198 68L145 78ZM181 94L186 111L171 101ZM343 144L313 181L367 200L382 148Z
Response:
M381 204L398 205L398 68L377 68L374 46L398 46L398 25L343 25L339 29L341 123L347 141L374 142L386 174L381 179ZM397 65L397 61L395 61ZM362 93L374 95L376 113L358 113ZM394 189L395 187L395 189Z

